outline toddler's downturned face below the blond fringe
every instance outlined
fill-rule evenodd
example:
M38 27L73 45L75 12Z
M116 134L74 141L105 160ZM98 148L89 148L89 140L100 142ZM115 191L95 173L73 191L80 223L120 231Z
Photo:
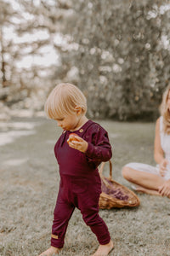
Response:
M79 115L75 112L72 114L65 115L60 119L56 119L56 121L57 121L57 125L61 127L63 130L76 131L79 118L80 118Z

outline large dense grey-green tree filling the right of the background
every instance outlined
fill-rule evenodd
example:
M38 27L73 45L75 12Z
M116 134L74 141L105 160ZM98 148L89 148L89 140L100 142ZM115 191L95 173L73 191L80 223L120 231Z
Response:
M170 78L167 1L76 1L63 63L88 96L92 117L155 119Z

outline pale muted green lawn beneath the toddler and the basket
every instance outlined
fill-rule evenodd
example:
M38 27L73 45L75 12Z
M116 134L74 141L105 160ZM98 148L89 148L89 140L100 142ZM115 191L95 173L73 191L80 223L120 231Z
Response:
M60 130L47 119L15 119L36 123L35 133L1 147L0 255L34 256L49 247L59 173L54 143ZM113 178L130 188L121 170L127 162L153 160L155 124L99 121L109 132L113 147ZM11 128L10 128L11 129ZM10 160L10 162L9 162ZM12 165L22 160L20 165ZM105 175L109 175L105 165ZM140 206L100 210L111 232L116 256L170 255L169 203L167 198L139 195ZM94 253L98 241L73 213L59 256Z

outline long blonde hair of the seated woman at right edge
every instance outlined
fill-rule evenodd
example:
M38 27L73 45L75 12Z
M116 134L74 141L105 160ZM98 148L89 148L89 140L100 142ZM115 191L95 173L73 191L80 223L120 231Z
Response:
M167 134L170 134L170 109L167 107L169 91L170 91L170 84L167 85L167 89L163 93L162 102L160 106L161 115L163 117L163 131Z

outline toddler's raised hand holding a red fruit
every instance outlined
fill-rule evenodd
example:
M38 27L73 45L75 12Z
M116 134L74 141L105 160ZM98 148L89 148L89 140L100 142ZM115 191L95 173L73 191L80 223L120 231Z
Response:
M85 140L83 140L82 137L77 136L77 134L71 136L71 138L67 140L67 143L71 148L75 148L81 151L82 153L85 153L88 149L88 143Z

